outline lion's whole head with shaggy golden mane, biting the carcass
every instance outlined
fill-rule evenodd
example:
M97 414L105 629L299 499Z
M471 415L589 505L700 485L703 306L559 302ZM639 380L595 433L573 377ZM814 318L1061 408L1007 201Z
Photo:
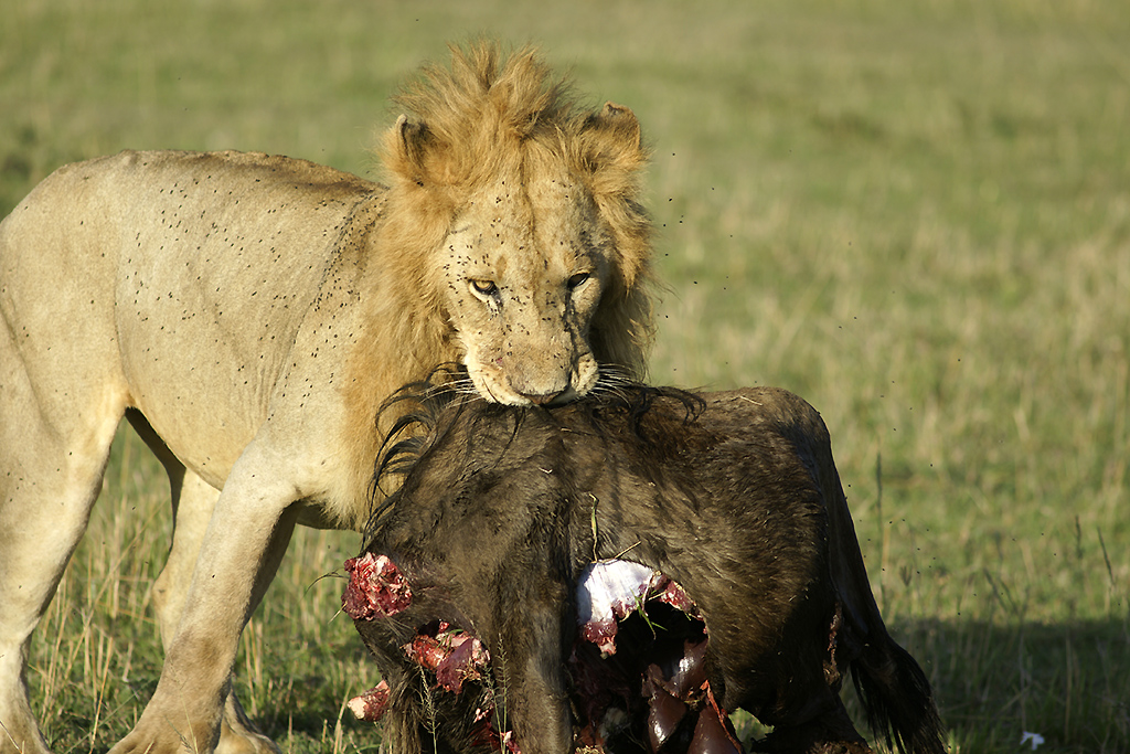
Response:
M583 395L598 364L641 378L651 248L638 121L611 103L582 111L531 50L452 53L399 95L409 114L383 141L389 217L416 250L401 261L409 279L488 400Z

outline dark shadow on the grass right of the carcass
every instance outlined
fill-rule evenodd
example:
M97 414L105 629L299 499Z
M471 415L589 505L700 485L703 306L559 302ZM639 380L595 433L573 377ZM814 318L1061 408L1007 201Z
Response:
M892 634L933 685L955 752L1130 751L1130 615L1063 624L899 621ZM859 703L844 692L857 719ZM863 728L861 728L862 730Z

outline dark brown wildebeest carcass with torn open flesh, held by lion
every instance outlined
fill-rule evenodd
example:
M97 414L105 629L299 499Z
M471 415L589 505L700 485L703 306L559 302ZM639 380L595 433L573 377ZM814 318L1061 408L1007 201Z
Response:
M869 752L849 668L876 735L945 751L800 398L638 387L421 421L344 597L384 678L351 707L386 712L393 751L723 754L741 708L773 727L755 751Z

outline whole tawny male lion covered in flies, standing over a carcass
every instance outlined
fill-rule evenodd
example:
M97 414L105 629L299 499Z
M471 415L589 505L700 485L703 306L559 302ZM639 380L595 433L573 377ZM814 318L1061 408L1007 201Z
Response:
M386 185L127 151L60 168L0 224L0 752L47 748L29 635L122 416L168 473L176 529L154 586L165 665L112 751L264 752L231 691L240 633L296 523L364 527L382 402L450 362L514 406L643 372L632 111L589 111L534 50L492 42L394 102Z

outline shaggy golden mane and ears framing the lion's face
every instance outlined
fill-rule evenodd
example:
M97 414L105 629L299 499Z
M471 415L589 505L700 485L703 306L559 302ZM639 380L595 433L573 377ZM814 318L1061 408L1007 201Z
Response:
M451 47L450 68L428 64L397 95L406 114L377 148L392 191L381 245L395 289L427 289L421 260L443 242L452 214L493 176L523 161L564 163L591 192L616 249L614 270L590 329L601 364L642 379L653 338L651 223L640 202L647 150L640 125L612 104L579 106L567 78L531 47L504 57L492 42ZM440 317L427 301L403 302L420 321ZM449 354L436 353L432 365Z

